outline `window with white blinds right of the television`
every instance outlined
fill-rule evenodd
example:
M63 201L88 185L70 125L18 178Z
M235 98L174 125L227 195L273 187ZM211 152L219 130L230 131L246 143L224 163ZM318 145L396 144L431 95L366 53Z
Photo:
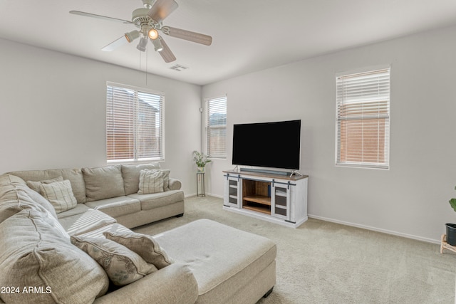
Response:
M336 165L389 167L390 68L336 77Z

